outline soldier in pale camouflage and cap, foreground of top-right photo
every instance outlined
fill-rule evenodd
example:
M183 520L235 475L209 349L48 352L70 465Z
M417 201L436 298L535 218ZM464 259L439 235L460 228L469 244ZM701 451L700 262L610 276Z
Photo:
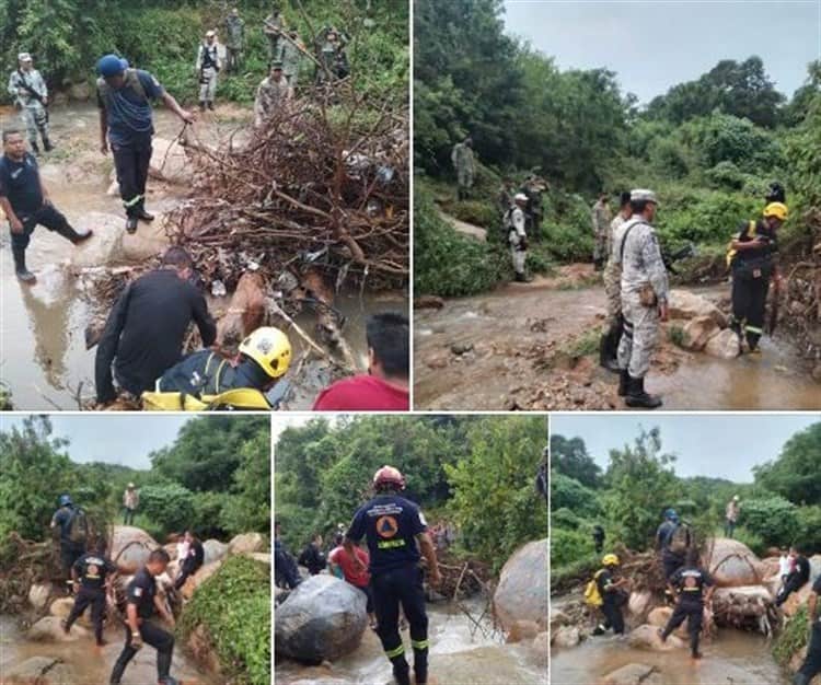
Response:
M655 409L661 398L645 391L645 376L668 317L669 283L652 220L658 200L651 190L631 193L633 216L615 235L613 258L622 268L624 332L618 344L618 395L628 407Z

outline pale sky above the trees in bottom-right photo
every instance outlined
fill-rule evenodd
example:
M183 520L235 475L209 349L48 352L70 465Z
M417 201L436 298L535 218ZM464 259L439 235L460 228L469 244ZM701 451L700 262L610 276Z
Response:
M633 443L639 427L658 426L662 449L678 455L679 476L709 476L752 481L752 467L768 462L799 430L821 415L560 415L551 417L551 432L582 438L597 464L605 468L612 448Z

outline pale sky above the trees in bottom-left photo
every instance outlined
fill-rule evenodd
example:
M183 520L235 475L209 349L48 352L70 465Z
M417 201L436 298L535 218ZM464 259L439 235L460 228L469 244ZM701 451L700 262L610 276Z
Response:
M151 468L148 455L174 442L189 417L165 414L57 415L51 418L53 436L68 438L72 462L106 462L131 468ZM0 416L0 429L20 426L20 416Z

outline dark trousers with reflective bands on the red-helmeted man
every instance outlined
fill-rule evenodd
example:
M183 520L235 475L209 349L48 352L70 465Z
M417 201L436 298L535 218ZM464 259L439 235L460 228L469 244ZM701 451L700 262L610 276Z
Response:
M393 675L400 685L409 685L410 676L405 647L400 635L400 605L410 626L414 648L416 683L428 682L428 615L425 611L425 589L421 571L416 566L371 576L373 607L377 612L377 634L382 649L393 664Z

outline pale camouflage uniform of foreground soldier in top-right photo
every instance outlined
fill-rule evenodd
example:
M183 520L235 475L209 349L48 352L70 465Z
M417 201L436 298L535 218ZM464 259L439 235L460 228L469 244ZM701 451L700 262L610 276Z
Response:
M618 345L618 367L634 379L644 379L658 345L660 326L658 304L641 304L639 291L649 283L661 303L670 290L656 230L641 217L625 221L615 234L613 260L622 268L624 335Z

